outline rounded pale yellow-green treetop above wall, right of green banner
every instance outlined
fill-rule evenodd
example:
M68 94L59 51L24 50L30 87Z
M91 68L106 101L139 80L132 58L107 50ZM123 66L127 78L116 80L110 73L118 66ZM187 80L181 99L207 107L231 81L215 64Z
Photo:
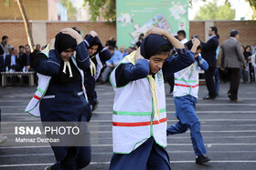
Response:
M217 0L209 2L201 7L195 16L195 20L232 20L235 18L235 10L231 9L230 3L217 5Z

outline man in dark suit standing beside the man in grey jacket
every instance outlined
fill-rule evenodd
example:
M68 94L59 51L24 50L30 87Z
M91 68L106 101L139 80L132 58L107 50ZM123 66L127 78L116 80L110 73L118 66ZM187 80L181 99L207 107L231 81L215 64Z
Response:
M214 71L216 67L216 50L219 46L218 29L211 26L208 29L209 40L207 43L201 43L201 55L208 62L208 70L205 71L206 83L208 87L208 95L203 99L214 99L216 97L215 83L213 81Z

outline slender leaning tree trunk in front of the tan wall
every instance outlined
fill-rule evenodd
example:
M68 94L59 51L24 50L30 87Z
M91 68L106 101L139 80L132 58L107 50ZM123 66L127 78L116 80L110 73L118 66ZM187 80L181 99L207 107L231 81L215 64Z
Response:
M33 52L33 50L34 50L33 47L35 46L35 44L34 44L34 41L33 41L33 36L32 36L30 25L28 23L28 18L27 18L26 10L25 10L25 8L23 6L22 0L16 0L16 3L18 5L20 14L22 15L22 19L23 19L23 22L24 22L24 25L25 25L28 45L31 46L31 51ZM10 0L6 0L5 1L5 6L9 6L9 5L10 5Z

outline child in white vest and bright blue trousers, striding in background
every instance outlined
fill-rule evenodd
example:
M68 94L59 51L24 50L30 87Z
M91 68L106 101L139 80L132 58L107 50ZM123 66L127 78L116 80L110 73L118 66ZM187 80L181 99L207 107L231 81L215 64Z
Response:
M208 63L199 54L201 48L192 47L192 42L199 41L193 38L187 42L188 49L195 53L195 63L187 66L183 70L175 73L174 99L176 105L176 117L179 120L176 125L170 125L167 128L167 135L185 133L190 129L190 136L197 155L196 163L203 164L210 161L210 158L204 156L207 151L204 140L200 132L200 123L196 113L197 94L198 94L198 76L199 67L203 70L208 69Z

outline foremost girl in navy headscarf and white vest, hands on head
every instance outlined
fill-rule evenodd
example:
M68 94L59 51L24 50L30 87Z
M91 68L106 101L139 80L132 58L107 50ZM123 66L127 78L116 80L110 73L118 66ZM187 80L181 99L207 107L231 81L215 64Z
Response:
M169 56L172 46L177 56ZM194 63L192 54L174 36L152 28L141 47L111 74L115 92L112 114L111 170L170 169L165 150L166 109L164 75Z

